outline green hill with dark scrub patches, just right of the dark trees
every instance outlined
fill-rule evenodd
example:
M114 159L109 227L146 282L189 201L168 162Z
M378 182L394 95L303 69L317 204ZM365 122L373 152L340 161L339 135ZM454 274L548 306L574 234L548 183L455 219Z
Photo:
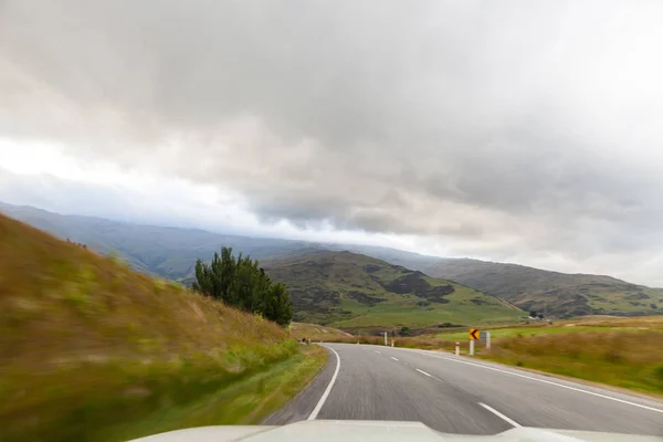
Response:
M350 252L263 262L284 282L298 322L351 328L513 322L523 312L470 287Z

